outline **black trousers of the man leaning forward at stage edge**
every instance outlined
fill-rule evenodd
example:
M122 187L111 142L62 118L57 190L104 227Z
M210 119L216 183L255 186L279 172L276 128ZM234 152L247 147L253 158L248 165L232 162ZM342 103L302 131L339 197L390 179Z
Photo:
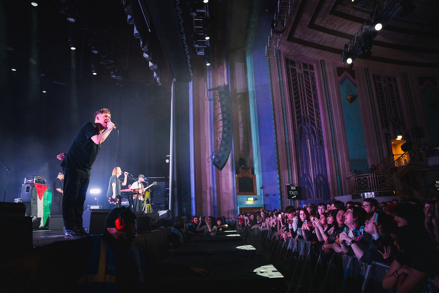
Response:
M90 175L64 168L64 196L62 199L62 217L66 230L83 225L82 214Z

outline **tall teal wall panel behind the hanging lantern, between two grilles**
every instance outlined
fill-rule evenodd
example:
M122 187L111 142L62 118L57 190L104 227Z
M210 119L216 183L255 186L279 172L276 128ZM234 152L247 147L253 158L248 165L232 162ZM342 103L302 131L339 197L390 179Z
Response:
M342 75L343 76L343 75ZM366 140L364 138L363 121L361 121L360 102L356 83L351 81L347 75L339 80L338 87L345 120L346 138L349 150L349 165L351 170L357 170L357 174L366 174L369 170L367 160ZM346 100L346 96L353 95L355 100L352 104Z

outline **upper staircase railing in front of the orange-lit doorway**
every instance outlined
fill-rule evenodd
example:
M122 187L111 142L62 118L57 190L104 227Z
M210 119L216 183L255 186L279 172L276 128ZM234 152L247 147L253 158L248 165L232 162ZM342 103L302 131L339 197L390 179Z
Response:
M396 159L395 159L396 158ZM390 155L377 166L377 172L398 172L407 163L428 163L427 153L422 150L410 150L402 155Z

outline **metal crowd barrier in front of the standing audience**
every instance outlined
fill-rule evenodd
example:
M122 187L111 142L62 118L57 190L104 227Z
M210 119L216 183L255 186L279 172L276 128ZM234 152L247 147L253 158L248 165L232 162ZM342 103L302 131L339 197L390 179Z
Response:
M272 237L273 232L260 232L259 229L245 229L245 239L256 250L268 257L273 265L284 275L288 292L378 292L396 293L396 289L386 290L382 279L389 265L379 261L362 263L355 256L343 253L324 254L313 251L308 241L289 238L279 241ZM439 293L428 279L425 293Z

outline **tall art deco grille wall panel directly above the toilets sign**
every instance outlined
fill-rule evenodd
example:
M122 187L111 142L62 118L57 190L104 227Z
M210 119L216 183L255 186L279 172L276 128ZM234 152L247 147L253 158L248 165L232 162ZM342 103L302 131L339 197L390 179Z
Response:
M306 198L329 199L316 76L311 64L285 60L299 186Z

